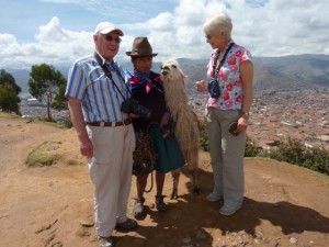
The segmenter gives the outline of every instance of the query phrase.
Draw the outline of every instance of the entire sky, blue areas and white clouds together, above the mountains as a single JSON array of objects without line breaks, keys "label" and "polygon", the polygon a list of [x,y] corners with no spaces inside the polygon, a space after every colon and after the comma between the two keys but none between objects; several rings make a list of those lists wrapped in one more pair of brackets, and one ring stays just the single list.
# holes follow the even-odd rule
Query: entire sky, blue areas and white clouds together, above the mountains
[{"label": "entire sky, blue areas and white clouds together, above the mountains", "polygon": [[207,58],[202,24],[219,11],[232,38],[253,56],[329,54],[329,1],[324,0],[0,0],[0,68],[69,66],[93,52],[101,21],[125,33],[117,60],[135,36],[149,37],[158,60]]}]

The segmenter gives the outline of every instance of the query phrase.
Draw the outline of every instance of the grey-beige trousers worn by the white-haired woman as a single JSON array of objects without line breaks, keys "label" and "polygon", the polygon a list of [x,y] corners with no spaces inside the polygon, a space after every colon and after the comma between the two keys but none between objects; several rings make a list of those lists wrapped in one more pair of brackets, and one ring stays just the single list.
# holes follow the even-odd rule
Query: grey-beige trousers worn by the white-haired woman
[{"label": "grey-beige trousers worn by the white-haired woman", "polygon": [[235,136],[229,124],[239,119],[238,110],[208,108],[205,113],[209,134],[214,193],[222,195],[229,209],[241,205],[245,192],[243,156],[246,132]]}]

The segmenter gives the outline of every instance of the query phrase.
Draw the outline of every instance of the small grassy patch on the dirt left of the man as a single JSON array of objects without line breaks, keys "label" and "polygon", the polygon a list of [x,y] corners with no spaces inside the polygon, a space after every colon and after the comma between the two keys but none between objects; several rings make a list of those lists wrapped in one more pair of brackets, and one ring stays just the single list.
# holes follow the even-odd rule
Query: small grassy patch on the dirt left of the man
[{"label": "small grassy patch on the dirt left of the man", "polygon": [[25,165],[29,167],[33,166],[52,166],[54,161],[54,157],[50,154],[47,154],[47,149],[52,146],[52,142],[43,142],[35,148],[33,148],[32,151],[27,155],[27,158],[25,159]]}]

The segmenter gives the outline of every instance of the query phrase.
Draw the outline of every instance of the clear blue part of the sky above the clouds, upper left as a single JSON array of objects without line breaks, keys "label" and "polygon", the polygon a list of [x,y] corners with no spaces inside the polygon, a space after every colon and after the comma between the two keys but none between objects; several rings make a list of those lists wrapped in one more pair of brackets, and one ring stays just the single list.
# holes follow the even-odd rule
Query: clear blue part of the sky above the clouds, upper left
[{"label": "clear blue part of the sky above the clouds, upper left", "polygon": [[97,23],[104,20],[117,24],[145,22],[161,12],[173,11],[178,2],[175,0],[0,0],[0,33],[14,34],[21,42],[33,42],[39,26],[48,23],[54,16],[60,20],[63,29],[76,32],[92,31]]}]

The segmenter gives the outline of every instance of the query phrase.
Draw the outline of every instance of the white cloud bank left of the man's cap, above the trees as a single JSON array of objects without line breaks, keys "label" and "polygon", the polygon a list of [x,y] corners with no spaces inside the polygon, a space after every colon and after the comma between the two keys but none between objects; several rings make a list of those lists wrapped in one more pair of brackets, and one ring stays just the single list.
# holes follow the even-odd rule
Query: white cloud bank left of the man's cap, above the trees
[{"label": "white cloud bank left of the man's cap, above the trees", "polygon": [[13,35],[0,34],[0,67],[31,68],[43,63],[69,66],[93,50],[92,33],[64,30],[56,16],[42,25],[35,37],[35,43],[20,44]]}]

